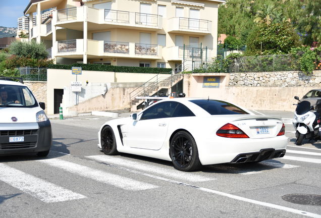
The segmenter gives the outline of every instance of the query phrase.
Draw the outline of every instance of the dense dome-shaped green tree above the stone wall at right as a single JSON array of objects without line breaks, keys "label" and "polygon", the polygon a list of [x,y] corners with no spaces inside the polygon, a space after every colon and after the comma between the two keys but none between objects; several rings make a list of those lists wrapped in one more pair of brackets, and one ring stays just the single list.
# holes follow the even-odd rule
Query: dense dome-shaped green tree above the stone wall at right
[{"label": "dense dome-shaped green tree above the stone wall at right", "polygon": [[249,35],[245,55],[285,54],[299,45],[299,36],[289,22],[262,23]]}]

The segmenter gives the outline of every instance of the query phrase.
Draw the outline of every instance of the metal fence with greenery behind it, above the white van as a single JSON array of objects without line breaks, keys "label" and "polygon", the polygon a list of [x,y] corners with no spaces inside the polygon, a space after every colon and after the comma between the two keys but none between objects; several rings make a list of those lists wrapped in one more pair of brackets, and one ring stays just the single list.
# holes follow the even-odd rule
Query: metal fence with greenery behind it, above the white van
[{"label": "metal fence with greenery behind it, above the white van", "polygon": [[47,81],[47,68],[20,67],[20,76],[28,81]]}]

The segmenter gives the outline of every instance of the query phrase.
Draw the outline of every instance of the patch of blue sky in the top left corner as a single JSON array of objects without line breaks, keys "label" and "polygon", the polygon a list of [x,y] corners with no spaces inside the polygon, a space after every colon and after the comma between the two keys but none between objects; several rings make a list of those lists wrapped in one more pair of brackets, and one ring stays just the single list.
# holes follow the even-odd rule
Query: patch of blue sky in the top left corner
[{"label": "patch of blue sky in the top left corner", "polygon": [[0,0],[0,26],[17,27],[17,19],[23,16],[23,11],[29,0]]}]

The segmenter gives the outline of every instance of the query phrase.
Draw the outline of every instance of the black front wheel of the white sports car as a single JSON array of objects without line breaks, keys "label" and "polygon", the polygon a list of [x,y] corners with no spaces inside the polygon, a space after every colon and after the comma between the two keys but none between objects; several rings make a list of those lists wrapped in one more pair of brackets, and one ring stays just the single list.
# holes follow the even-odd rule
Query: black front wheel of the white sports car
[{"label": "black front wheel of the white sports car", "polygon": [[115,134],[114,134],[112,127],[105,126],[101,130],[100,144],[101,144],[101,149],[104,154],[107,154],[107,155],[118,154]]}]

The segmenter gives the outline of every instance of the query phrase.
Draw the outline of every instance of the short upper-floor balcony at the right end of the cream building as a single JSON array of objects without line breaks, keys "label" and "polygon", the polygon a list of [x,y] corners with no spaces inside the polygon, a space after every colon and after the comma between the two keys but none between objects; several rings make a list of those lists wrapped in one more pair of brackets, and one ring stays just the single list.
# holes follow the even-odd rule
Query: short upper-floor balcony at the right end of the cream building
[{"label": "short upper-floor balcony at the right end of the cream building", "polygon": [[168,20],[169,32],[206,35],[211,33],[211,21],[174,17]]}]

